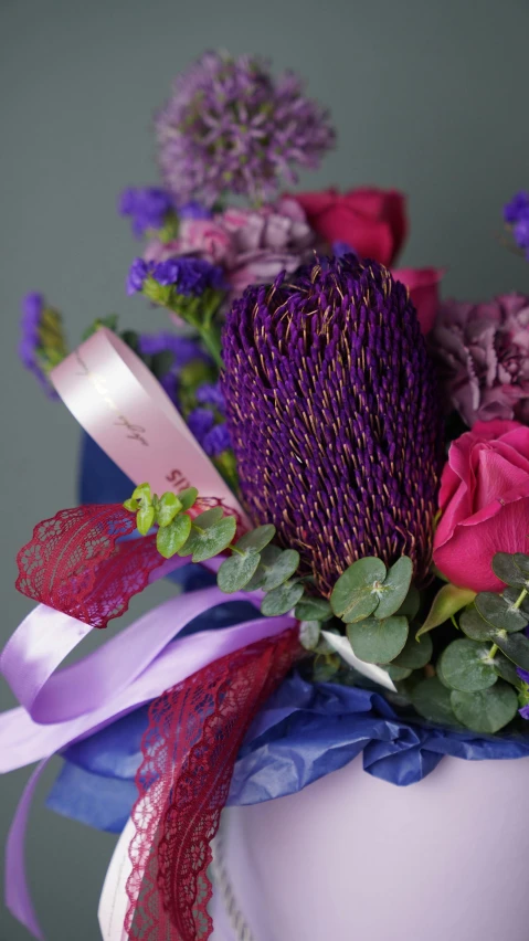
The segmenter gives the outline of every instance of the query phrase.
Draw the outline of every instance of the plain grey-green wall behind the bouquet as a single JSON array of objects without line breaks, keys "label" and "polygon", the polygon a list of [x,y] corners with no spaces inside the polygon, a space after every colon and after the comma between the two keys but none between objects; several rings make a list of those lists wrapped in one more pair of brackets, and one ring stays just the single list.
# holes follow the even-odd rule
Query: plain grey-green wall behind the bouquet
[{"label": "plain grey-green wall behind the bouquet", "polygon": [[[528,34],[527,0],[0,0],[2,644],[31,607],[13,589],[15,550],[75,504],[78,442],[67,411],[19,366],[19,300],[44,290],[72,343],[113,310],[165,326],[124,294],[135,244],[115,204],[125,186],[157,178],[150,114],[172,76],[214,46],[303,73],[339,130],[303,182],[403,189],[402,262],[445,265],[445,294],[479,298],[529,292],[529,265],[498,244],[502,203],[529,187]],[[130,616],[169,591],[150,589]],[[0,782],[2,839],[27,776]],[[114,839],[45,811],[50,781],[29,834],[36,910],[50,941],[94,941]],[[28,937],[3,909],[0,941]]]}]

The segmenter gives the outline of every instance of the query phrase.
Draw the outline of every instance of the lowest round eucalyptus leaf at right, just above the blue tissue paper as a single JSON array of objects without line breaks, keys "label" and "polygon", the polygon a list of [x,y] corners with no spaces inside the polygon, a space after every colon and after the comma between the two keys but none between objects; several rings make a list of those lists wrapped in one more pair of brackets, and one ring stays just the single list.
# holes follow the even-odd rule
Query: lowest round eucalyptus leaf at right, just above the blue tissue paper
[{"label": "lowest round eucalyptus leaf at right, just above the blue tissue paper", "polygon": [[449,698],[459,722],[475,732],[486,734],[499,732],[518,711],[518,696],[502,679],[476,692],[453,689]]}]

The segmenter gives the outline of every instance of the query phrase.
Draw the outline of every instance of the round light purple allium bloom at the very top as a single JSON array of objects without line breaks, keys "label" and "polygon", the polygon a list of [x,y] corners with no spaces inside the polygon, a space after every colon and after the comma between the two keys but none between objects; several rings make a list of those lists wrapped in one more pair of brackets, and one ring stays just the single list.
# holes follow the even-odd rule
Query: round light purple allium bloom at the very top
[{"label": "round light purple allium bloom at the very top", "polygon": [[213,205],[231,191],[269,200],[296,167],[318,167],[335,133],[292,72],[261,59],[208,52],[174,84],[157,118],[159,160],[179,202]]}]

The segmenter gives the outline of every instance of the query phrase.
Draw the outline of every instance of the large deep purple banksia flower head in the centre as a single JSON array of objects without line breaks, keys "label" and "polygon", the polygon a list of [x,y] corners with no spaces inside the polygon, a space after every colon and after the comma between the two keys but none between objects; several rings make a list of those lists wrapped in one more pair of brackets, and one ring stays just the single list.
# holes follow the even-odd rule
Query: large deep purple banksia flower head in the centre
[{"label": "large deep purple banksia flower head in the centre", "polygon": [[329,594],[356,559],[430,565],[442,464],[433,370],[404,285],[355,256],[248,287],[221,384],[242,495]]}]

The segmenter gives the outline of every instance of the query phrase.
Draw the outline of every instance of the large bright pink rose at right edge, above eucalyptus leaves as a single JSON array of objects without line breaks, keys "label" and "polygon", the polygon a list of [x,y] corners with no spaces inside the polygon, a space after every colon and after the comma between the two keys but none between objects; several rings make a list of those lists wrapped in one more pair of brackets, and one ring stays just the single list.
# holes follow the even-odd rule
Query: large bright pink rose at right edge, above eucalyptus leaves
[{"label": "large bright pink rose at right edge, above eucalyptus leaves", "polygon": [[477,422],[453,442],[441,480],[437,568],[456,585],[498,591],[496,552],[529,550],[529,429]]}]

